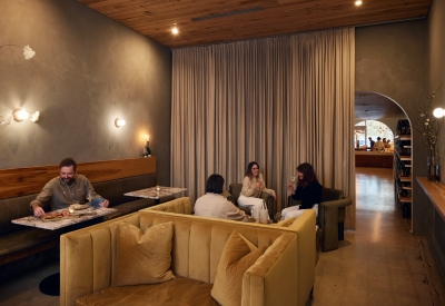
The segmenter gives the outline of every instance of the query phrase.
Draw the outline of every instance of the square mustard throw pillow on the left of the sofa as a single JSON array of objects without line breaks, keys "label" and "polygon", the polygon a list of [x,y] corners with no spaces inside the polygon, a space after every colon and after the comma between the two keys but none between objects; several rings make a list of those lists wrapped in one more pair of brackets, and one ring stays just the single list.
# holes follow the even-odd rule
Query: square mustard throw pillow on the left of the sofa
[{"label": "square mustard throw pillow on the left of the sofa", "polygon": [[171,266],[172,223],[147,228],[131,224],[117,227],[112,286],[158,284],[175,278]]}]

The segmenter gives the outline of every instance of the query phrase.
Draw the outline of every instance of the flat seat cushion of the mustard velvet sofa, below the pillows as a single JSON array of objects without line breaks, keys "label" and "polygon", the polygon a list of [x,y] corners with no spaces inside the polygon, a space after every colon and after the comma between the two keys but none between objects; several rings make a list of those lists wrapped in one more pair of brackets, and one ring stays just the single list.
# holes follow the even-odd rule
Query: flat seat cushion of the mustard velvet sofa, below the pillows
[{"label": "flat seat cushion of the mustard velvet sofa, below the pillows", "polygon": [[108,287],[76,300],[77,306],[218,306],[211,297],[211,284],[178,276],[156,285]]}]

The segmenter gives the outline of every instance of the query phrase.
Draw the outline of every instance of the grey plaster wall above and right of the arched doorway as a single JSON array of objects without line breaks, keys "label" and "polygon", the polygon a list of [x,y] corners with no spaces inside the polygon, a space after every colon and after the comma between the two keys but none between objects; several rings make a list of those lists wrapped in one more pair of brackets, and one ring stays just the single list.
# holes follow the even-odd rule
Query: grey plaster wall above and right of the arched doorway
[{"label": "grey plaster wall above and right of the arched doorway", "polygon": [[[427,92],[427,21],[416,20],[356,29],[356,90],[393,99],[409,120],[414,105]],[[426,148],[413,136],[414,177],[426,175]],[[424,194],[414,184],[413,230],[425,233]],[[402,213],[400,213],[402,218]]]}]

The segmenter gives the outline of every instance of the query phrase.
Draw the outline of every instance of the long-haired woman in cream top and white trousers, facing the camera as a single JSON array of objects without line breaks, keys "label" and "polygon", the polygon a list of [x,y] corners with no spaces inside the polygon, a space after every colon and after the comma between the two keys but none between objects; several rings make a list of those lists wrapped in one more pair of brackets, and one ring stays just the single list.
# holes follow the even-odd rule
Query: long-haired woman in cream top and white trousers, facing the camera
[{"label": "long-haired woman in cream top and white trousers, facing the camera", "polygon": [[243,180],[241,194],[238,198],[238,205],[250,207],[251,216],[257,216],[257,210],[263,206],[261,193],[270,194],[275,199],[277,196],[273,189],[267,189],[259,172],[259,166],[256,161],[250,161],[247,166],[246,176]]}]

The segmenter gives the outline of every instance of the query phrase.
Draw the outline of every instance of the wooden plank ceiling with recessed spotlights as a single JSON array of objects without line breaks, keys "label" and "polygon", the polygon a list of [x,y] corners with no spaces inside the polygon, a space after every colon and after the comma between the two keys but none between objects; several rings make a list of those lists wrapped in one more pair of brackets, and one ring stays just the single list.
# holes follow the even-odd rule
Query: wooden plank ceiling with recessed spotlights
[{"label": "wooden plank ceiling with recessed spotlights", "polygon": [[[169,48],[419,19],[426,18],[431,4],[431,0],[363,0],[360,7],[355,0],[78,1]],[[240,13],[246,10],[253,11]],[[204,20],[192,20],[197,18]],[[177,36],[171,33],[175,26]]]}]

